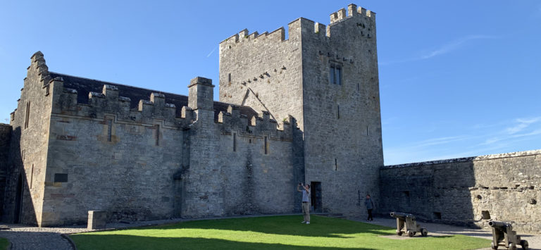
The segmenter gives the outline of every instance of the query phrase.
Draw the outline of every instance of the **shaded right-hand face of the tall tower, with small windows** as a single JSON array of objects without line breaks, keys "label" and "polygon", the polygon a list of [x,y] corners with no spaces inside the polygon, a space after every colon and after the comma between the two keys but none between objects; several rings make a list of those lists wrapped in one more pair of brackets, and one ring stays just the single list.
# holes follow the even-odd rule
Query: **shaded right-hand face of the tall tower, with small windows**
[{"label": "shaded right-hand face of the tall tower, with small windows", "polygon": [[375,13],[351,4],[330,22],[301,19],[306,180],[321,182],[323,211],[359,215],[383,165]]}]

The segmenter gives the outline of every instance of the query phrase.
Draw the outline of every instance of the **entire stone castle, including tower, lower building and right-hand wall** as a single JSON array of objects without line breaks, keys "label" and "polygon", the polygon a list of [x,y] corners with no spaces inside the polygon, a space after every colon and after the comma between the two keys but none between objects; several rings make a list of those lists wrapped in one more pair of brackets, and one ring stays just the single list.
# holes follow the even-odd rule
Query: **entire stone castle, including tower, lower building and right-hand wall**
[{"label": "entire stone castle, including tower, lower building and right-hand wall", "polygon": [[[204,77],[182,96],[54,73],[38,51],[10,125],[0,125],[2,219],[297,213],[305,182],[316,212],[364,215],[371,194],[378,213],[483,225],[491,210],[541,231],[527,221],[541,218],[541,151],[383,165],[375,13],[350,4],[327,26],[299,18],[285,32],[220,42],[220,101]],[[477,169],[494,165],[499,177],[478,181]],[[504,190],[521,204],[495,205]]]}]

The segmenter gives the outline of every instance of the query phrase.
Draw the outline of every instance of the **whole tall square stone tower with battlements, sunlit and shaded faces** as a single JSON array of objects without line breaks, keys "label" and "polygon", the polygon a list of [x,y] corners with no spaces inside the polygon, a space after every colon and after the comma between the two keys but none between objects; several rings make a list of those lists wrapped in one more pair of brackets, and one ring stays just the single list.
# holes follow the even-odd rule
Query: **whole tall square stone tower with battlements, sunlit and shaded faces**
[{"label": "whole tall square stone tower with battlements, sunlit and shaded faces", "polygon": [[359,213],[383,165],[375,13],[350,4],[327,27],[299,18],[287,32],[220,43],[220,101],[297,119],[315,211]]}]

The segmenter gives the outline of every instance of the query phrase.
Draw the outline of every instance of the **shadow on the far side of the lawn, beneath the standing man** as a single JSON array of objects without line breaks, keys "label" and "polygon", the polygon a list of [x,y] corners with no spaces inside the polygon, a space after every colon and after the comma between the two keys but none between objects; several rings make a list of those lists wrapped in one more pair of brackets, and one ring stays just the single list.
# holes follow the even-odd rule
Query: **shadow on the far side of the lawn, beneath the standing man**
[{"label": "shadow on the far side of the lawn, beneath the standing man", "polygon": [[[352,238],[344,235],[359,233],[373,235],[392,235],[391,227],[360,223],[322,216],[312,216],[311,224],[300,223],[301,216],[270,216],[259,218],[235,218],[219,220],[194,220],[166,226],[147,227],[152,230],[170,230],[180,228],[203,230],[251,231],[273,235],[294,235],[305,237]],[[145,230],[145,228],[140,228]]]}]

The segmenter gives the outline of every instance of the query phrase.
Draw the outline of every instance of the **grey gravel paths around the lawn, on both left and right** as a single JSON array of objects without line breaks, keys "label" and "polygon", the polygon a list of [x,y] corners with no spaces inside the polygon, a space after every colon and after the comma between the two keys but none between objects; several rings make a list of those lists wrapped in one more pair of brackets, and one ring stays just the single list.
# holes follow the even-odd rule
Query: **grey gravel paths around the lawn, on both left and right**
[{"label": "grey gravel paths around the lawn, on both left and right", "polygon": [[[272,215],[269,215],[272,216]],[[234,218],[246,218],[246,217],[258,217],[254,216],[238,216]],[[216,218],[208,218],[216,219]],[[365,220],[359,218],[349,218],[350,220],[356,220],[365,222]],[[151,221],[142,221],[142,222],[132,222],[132,223],[108,223],[107,230],[122,229],[128,227],[141,227],[146,225],[162,225],[168,223],[178,223],[182,221],[181,219],[174,220],[151,220]],[[387,218],[375,218],[373,223],[376,225],[385,225],[387,227],[396,227],[396,220],[387,219]],[[442,225],[434,223],[420,223],[423,227],[428,229],[428,235],[468,235],[473,237],[480,237],[485,239],[492,239],[492,232],[489,230],[478,230],[468,227],[456,227],[452,225]],[[0,237],[4,237],[11,242],[11,249],[14,250],[42,250],[42,249],[57,249],[57,250],[72,250],[70,242],[65,239],[63,234],[73,234],[77,232],[91,232],[94,230],[87,230],[85,225],[73,225],[66,227],[29,227],[25,225],[18,224],[4,224],[0,223],[0,227],[7,226],[9,230],[0,230]],[[530,249],[541,250],[541,235],[528,235],[521,234],[518,232],[518,235],[522,239],[528,240],[530,244]],[[401,237],[400,239],[408,239],[409,237]],[[490,249],[490,246],[485,248]],[[482,249],[482,250],[485,250]],[[500,248],[502,249],[502,248]],[[520,249],[520,246],[518,246]]]}]

